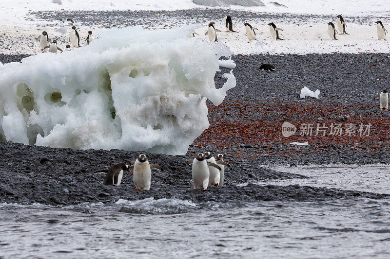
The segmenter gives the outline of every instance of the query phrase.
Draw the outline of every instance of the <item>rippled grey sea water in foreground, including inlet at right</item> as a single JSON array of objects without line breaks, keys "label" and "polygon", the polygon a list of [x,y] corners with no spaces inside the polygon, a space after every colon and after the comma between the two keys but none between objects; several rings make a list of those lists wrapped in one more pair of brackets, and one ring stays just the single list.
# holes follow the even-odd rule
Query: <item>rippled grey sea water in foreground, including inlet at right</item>
[{"label": "rippled grey sea water in foreground, including inlet at right", "polygon": [[[257,183],[390,193],[390,166],[270,167]],[[242,185],[245,188],[245,184]],[[390,200],[0,204],[3,258],[390,258]]]}]

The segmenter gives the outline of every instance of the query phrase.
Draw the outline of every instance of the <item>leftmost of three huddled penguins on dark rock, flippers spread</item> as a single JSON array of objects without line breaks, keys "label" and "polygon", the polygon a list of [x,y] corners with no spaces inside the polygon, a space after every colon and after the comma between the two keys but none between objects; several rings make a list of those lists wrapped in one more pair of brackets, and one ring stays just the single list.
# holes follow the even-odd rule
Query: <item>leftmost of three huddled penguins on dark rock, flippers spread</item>
[{"label": "leftmost of three huddled penguins on dark rock, flippers spread", "polygon": [[203,153],[199,153],[194,160],[189,160],[188,165],[192,165],[192,182],[195,190],[198,188],[203,188],[203,190],[207,189],[209,185],[210,167],[221,170],[217,164],[207,162]]}]

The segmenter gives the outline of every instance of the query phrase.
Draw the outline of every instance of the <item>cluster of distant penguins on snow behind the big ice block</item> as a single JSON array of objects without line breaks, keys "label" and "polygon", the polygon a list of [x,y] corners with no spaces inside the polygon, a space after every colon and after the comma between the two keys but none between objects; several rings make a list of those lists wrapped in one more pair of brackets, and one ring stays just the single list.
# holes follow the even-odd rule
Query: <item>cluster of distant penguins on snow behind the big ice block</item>
[{"label": "cluster of distant penguins on snow behind the big ice block", "polygon": [[[49,35],[46,31],[43,31],[42,34],[37,38],[39,40],[39,46],[41,48],[42,52],[46,52],[47,50],[49,52],[56,53],[57,51],[63,52],[62,49],[58,47],[57,40],[51,41],[49,39]],[[92,31],[88,32],[88,35],[84,41],[83,46],[89,45],[93,40],[95,40],[95,37],[92,35]],[[69,36],[70,44],[66,45],[65,50],[71,51],[71,46],[73,48],[79,48],[80,46],[80,35],[78,34],[78,31],[76,30],[76,26],[72,26],[70,36]]]}]

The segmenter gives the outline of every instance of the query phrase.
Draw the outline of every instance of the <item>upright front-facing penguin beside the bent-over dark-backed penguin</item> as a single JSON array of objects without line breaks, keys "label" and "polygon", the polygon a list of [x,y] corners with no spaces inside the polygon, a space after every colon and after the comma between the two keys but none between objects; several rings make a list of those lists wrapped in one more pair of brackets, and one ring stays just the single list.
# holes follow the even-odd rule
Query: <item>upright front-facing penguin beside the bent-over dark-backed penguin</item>
[{"label": "upright front-facing penguin beside the bent-over dark-backed penguin", "polygon": [[130,165],[134,166],[133,181],[137,190],[150,189],[152,168],[162,171],[159,165],[149,164],[148,157],[144,154],[139,155],[136,161],[131,161]]}]

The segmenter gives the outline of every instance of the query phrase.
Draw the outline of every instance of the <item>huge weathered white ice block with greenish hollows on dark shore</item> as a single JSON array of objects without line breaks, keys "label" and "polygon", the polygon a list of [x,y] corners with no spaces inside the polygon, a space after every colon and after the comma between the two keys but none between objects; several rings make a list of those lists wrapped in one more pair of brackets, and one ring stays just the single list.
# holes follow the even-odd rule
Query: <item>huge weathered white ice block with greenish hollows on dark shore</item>
[{"label": "huge weathered white ice block with greenish hollows on dark shore", "polygon": [[222,44],[188,39],[194,26],[159,31],[110,29],[71,52],[41,53],[0,65],[0,141],[75,149],[172,155],[209,126]]}]

